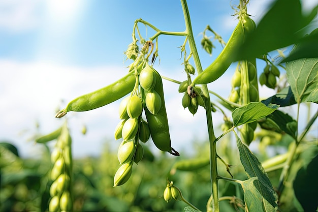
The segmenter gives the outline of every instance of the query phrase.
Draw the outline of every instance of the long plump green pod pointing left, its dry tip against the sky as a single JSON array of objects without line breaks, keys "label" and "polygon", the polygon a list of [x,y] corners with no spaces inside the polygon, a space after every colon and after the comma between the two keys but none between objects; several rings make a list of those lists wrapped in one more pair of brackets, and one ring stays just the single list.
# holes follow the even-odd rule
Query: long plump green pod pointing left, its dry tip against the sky
[{"label": "long plump green pod pointing left, its dry tip against the sky", "polygon": [[93,110],[109,103],[112,103],[132,92],[136,82],[134,72],[130,72],[116,82],[98,89],[92,93],[85,94],[72,100],[65,109],[56,113],[55,117],[60,118],[69,111]]}]

